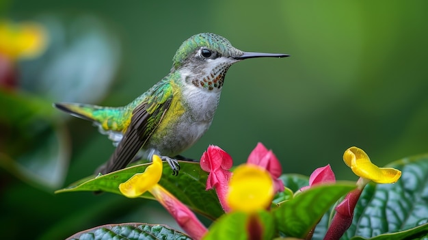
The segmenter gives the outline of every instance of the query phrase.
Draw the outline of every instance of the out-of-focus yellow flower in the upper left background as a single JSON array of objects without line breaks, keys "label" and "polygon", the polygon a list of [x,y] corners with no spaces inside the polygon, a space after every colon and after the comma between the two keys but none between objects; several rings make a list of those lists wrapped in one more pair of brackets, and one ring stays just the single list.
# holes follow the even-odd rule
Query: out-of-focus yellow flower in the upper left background
[{"label": "out-of-focus yellow flower in the upper left background", "polygon": [[31,58],[46,48],[46,29],[38,23],[0,20],[0,54],[11,59]]}]

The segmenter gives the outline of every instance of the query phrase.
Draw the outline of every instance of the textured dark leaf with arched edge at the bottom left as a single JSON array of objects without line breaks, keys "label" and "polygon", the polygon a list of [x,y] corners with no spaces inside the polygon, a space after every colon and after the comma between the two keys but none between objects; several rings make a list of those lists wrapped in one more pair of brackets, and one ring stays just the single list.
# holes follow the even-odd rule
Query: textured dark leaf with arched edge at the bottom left
[{"label": "textured dark leaf with arched edge at the bottom left", "polygon": [[108,224],[98,226],[72,235],[68,240],[90,240],[90,239],[189,239],[183,232],[178,232],[165,225],[152,224]]}]

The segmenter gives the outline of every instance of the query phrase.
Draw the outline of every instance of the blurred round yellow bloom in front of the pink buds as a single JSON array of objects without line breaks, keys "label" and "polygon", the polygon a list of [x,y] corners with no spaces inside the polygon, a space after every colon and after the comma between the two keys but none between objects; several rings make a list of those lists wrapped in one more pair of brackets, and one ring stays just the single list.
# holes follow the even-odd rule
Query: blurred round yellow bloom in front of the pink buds
[{"label": "blurred round yellow bloom in front of the pink buds", "polygon": [[273,181],[265,169],[257,165],[240,165],[229,182],[228,205],[232,211],[254,212],[266,209],[273,198]]}]

